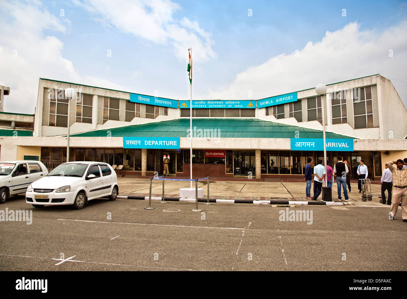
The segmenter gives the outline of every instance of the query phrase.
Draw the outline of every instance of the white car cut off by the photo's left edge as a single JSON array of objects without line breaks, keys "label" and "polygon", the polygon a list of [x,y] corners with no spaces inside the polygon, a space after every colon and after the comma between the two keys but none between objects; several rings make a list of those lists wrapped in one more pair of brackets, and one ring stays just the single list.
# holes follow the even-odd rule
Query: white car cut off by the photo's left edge
[{"label": "white car cut off by the photo's left edge", "polygon": [[0,162],[0,203],[10,195],[25,193],[28,185],[47,174],[48,169],[39,161]]}]

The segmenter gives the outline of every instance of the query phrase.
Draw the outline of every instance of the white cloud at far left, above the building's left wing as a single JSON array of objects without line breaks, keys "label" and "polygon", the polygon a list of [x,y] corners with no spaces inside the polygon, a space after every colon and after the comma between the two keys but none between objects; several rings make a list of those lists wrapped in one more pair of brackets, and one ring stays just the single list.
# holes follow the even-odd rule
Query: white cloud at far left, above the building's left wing
[{"label": "white cloud at far left, above the building's left wing", "polygon": [[52,15],[38,1],[2,3],[0,18],[0,85],[10,87],[4,111],[34,113],[38,79],[48,78],[112,89],[126,87],[78,74],[72,61],[62,57],[63,42],[44,30],[67,33],[70,20]]}]

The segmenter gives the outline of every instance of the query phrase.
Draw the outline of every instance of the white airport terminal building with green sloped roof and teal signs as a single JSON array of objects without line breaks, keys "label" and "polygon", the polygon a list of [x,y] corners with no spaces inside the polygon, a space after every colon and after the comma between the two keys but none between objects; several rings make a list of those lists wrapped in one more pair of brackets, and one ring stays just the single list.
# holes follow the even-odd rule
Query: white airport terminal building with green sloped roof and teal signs
[{"label": "white airport terminal building with green sloped roof and teal signs", "polygon": [[[77,99],[66,99],[66,88]],[[322,97],[310,88],[264,99],[193,101],[192,132],[190,105],[39,79],[35,114],[0,112],[0,159],[38,159],[48,169],[66,162],[69,120],[70,161],[107,162],[121,175],[162,175],[169,157],[170,175],[189,177],[192,133],[194,177],[303,178],[306,159],[313,167],[324,156],[322,109],[333,163],[338,155],[350,165],[363,159],[369,177],[380,179],[385,162],[407,157],[407,109],[380,74],[329,84]]]}]

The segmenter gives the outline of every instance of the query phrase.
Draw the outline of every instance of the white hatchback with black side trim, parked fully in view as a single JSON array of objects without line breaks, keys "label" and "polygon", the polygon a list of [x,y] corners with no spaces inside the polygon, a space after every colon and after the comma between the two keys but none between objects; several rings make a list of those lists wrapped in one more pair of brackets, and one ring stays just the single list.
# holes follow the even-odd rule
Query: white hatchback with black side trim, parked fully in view
[{"label": "white hatchback with black side trim, parked fully in view", "polygon": [[67,162],[27,188],[26,203],[73,205],[82,209],[87,201],[109,196],[114,201],[119,187],[112,166],[102,162]]}]

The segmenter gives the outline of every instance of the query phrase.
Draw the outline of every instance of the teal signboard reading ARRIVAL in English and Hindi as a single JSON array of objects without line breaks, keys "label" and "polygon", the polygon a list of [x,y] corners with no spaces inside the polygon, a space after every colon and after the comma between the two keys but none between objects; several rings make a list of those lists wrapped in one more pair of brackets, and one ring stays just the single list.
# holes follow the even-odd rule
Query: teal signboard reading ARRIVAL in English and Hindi
[{"label": "teal signboard reading ARRIVAL in English and Hindi", "polygon": [[[291,151],[323,151],[324,140],[291,138]],[[353,151],[353,139],[326,139],[327,151]]]}]

